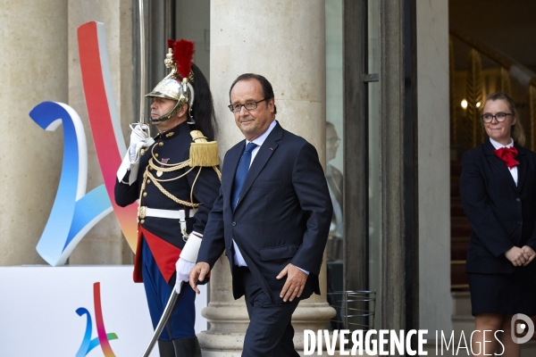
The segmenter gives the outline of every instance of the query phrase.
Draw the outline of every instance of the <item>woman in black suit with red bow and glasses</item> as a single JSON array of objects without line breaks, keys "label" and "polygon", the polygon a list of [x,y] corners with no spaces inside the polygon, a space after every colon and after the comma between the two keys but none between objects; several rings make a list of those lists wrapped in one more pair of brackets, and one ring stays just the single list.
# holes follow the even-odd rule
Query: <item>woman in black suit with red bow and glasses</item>
[{"label": "woman in black suit with red bow and glasses", "polygon": [[[460,178],[473,228],[465,265],[475,317],[473,354],[504,349],[503,356],[519,356],[512,316],[536,315],[536,154],[523,148],[523,128],[508,95],[486,98],[482,122],[489,138],[464,154]],[[502,346],[498,330],[504,331],[497,335]]]}]

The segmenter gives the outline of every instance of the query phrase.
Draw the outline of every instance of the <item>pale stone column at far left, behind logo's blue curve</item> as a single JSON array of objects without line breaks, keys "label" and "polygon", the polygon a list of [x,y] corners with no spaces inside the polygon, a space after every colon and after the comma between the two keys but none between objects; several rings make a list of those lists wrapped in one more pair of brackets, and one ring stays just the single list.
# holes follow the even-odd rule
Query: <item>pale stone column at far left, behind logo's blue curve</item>
[{"label": "pale stone column at far left, behind logo's blue curve", "polygon": [[67,102],[67,0],[2,4],[0,265],[43,263],[36,245],[54,203],[63,134],[39,128],[29,112]]}]

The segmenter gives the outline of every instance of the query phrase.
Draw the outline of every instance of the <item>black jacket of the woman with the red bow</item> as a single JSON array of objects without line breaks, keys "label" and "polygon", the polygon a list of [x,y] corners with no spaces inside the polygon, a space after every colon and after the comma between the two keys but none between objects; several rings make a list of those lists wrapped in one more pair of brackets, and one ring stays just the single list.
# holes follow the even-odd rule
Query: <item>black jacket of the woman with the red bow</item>
[{"label": "black jacket of the woman with the red bow", "polygon": [[[464,154],[460,191],[473,232],[465,271],[510,273],[514,266],[504,253],[513,246],[536,249],[536,154],[518,150],[517,186],[490,140]],[[534,269],[536,263],[527,267]]]}]

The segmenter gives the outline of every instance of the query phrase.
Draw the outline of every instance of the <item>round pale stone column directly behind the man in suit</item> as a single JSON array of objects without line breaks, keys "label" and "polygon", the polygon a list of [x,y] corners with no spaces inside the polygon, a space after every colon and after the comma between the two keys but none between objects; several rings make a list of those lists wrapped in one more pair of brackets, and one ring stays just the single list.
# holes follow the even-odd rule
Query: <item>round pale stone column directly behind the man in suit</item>
[{"label": "round pale stone column directly behind the man in suit", "polygon": [[[218,117],[218,142],[223,154],[244,137],[226,108],[230,84],[254,72],[270,80],[284,129],[305,137],[325,158],[324,2],[211,1],[211,88]],[[239,356],[247,328],[243,299],[232,298],[226,258],[214,266],[211,299],[203,311],[211,328],[200,334],[206,356]],[[324,260],[325,261],[325,260]],[[326,270],[322,295],[299,304],[293,317],[297,351],[303,351],[305,328],[326,328],[334,310],[326,303]]]}]

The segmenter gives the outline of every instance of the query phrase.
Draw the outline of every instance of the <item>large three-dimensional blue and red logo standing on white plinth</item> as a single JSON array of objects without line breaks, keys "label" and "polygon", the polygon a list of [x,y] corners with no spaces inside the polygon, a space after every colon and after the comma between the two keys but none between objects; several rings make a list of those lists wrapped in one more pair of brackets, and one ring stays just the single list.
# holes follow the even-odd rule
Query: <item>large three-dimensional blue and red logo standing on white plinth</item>
[{"label": "large three-dimensional blue and red logo standing on white plinth", "polygon": [[115,172],[126,153],[106,51],[105,25],[88,22],[78,29],[80,70],[96,156],[105,183],[86,192],[88,150],[80,116],[69,105],[43,102],[29,116],[39,127],[63,126],[63,166],[54,205],[39,238],[39,255],[63,265],[88,230],[114,212],[130,248],[136,251],[137,205],[121,208],[113,200]]}]

